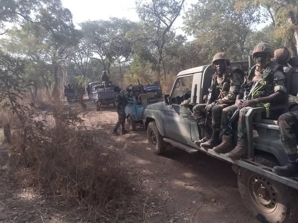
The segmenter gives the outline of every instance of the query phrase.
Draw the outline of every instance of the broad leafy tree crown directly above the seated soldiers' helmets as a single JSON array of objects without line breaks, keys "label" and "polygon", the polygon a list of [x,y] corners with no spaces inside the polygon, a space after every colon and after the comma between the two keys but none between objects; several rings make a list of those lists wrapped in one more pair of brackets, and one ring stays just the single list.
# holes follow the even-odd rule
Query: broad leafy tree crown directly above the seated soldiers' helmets
[{"label": "broad leafy tree crown directly above the seated soldiers' helmets", "polygon": [[247,36],[261,14],[253,3],[235,8],[235,0],[199,0],[186,13],[185,31],[194,35],[209,49],[212,57],[219,51],[242,59]]}]

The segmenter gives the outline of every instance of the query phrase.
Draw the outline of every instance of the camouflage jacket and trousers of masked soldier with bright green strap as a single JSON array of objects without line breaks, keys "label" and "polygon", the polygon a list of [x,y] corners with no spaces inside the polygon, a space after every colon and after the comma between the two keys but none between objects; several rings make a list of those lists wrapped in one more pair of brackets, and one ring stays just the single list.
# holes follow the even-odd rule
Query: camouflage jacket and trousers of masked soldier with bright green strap
[{"label": "camouflage jacket and trousers of masked soldier with bright green strap", "polygon": [[[268,69],[267,69],[268,68]],[[245,81],[244,85],[247,84],[247,82],[252,81],[254,79],[255,70],[257,69],[256,66],[253,66],[251,70],[248,73],[247,80]],[[269,70],[275,70],[275,72],[272,74],[272,71]],[[262,80],[266,81],[266,85],[264,88],[262,88],[260,91],[257,91],[254,95],[254,99],[267,97],[272,95],[275,92],[284,92],[287,93],[286,89],[286,81],[285,81],[285,75],[280,70],[280,65],[275,62],[270,62],[266,68],[263,71],[260,71]],[[255,107],[260,107],[256,105]],[[238,138],[246,139],[246,125],[245,125],[245,114],[249,109],[252,109],[252,107],[245,107],[242,108],[239,112],[239,121],[238,121]],[[223,110],[222,114],[222,129],[227,126],[228,121],[230,117],[233,115],[233,113],[237,110],[237,106],[233,105],[230,107],[227,107]],[[232,130],[226,129],[224,135],[227,138],[230,138],[232,136]]]}]

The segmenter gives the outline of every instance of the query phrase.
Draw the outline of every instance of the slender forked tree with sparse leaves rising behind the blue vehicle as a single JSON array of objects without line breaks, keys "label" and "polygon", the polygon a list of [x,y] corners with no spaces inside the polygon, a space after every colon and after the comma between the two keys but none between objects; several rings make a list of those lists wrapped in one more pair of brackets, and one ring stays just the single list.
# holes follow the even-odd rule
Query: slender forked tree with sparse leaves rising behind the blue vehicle
[{"label": "slender forked tree with sparse leaves rising behind the blue vehicle", "polygon": [[[177,17],[180,15],[185,0],[137,0],[137,12],[141,20],[148,24],[151,35],[149,42],[153,43],[158,52],[157,72],[163,70],[163,79],[166,79],[166,64],[163,60],[164,46],[167,34]],[[142,38],[144,39],[144,38]],[[161,67],[162,66],[162,67]]]}]

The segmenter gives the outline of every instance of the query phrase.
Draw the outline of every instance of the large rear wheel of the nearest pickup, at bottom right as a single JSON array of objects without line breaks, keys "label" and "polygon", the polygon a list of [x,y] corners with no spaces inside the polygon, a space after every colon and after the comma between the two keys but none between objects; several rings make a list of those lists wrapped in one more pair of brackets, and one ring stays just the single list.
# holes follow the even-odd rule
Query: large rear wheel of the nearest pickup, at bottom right
[{"label": "large rear wheel of the nearest pickup, at bottom right", "polygon": [[[256,156],[267,167],[279,165],[270,156]],[[245,168],[239,168],[238,188],[246,207],[262,223],[296,223],[297,191]]]}]

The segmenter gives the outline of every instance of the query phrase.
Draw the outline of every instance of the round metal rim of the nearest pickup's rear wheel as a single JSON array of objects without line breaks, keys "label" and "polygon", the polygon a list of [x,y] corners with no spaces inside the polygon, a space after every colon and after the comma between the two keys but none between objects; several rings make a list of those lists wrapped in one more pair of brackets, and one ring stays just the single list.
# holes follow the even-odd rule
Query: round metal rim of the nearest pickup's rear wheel
[{"label": "round metal rim of the nearest pickup's rear wheel", "polygon": [[265,213],[272,213],[278,204],[277,192],[272,182],[261,175],[253,174],[248,180],[249,195],[255,205]]}]

